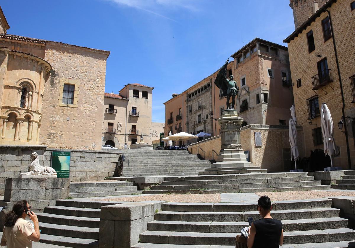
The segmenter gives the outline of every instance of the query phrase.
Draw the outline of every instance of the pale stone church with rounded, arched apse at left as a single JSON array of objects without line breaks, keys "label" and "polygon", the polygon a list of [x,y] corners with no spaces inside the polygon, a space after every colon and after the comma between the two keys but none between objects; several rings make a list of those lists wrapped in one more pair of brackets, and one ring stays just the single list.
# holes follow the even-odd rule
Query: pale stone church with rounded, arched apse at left
[{"label": "pale stone church with rounded, arched apse at left", "polygon": [[100,150],[110,52],[6,34],[2,11],[0,24],[0,145]]}]

